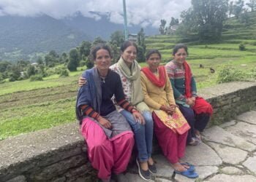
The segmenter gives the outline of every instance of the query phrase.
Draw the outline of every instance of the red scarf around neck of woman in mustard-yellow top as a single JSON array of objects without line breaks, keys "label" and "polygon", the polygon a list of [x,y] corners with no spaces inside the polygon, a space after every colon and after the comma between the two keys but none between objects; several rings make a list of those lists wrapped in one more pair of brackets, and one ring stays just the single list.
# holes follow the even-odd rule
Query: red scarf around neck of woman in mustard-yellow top
[{"label": "red scarf around neck of woman in mustard-yellow top", "polygon": [[147,76],[147,78],[157,87],[164,87],[165,86],[165,81],[166,81],[166,73],[165,73],[165,67],[164,66],[159,66],[158,71],[159,71],[159,79],[157,76],[155,76],[152,71],[148,68],[142,68],[141,71]]}]

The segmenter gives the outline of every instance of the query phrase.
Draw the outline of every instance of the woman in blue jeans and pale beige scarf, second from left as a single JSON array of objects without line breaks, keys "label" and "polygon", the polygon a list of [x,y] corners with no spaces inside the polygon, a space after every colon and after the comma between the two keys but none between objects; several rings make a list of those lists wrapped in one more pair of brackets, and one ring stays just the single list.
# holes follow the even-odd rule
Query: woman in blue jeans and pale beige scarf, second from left
[{"label": "woman in blue jeans and pale beige scarf, second from left", "polygon": [[[132,106],[135,106],[143,115],[143,122],[138,122],[132,114],[117,106],[117,110],[127,119],[135,133],[135,143],[138,149],[138,173],[144,180],[150,180],[150,173],[157,173],[157,167],[151,157],[153,139],[153,119],[146,103],[143,102],[143,92],[140,82],[140,66],[135,60],[138,47],[132,41],[124,41],[121,45],[121,57],[118,63],[110,66],[110,69],[121,76],[125,98]],[[80,78],[79,83],[84,84]]]}]

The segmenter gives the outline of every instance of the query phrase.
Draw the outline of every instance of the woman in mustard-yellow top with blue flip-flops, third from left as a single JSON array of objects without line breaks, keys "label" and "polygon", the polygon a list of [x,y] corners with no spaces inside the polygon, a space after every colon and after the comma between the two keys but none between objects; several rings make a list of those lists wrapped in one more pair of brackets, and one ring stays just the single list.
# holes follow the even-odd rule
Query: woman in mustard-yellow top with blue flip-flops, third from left
[{"label": "woman in mustard-yellow top with blue flip-flops, third from left", "polygon": [[165,67],[159,66],[160,61],[158,50],[148,51],[148,67],[143,68],[141,73],[144,101],[153,111],[154,132],[159,146],[175,172],[188,178],[197,178],[194,166],[179,161],[184,156],[189,124],[176,107],[170,81]]}]

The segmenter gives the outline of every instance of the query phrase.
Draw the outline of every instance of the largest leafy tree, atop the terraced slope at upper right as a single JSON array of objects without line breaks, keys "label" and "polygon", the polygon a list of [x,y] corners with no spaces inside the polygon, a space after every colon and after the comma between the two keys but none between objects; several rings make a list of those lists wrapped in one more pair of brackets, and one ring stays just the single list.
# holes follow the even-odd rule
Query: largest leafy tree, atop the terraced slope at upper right
[{"label": "largest leafy tree, atop the terraced slope at upper right", "polygon": [[227,15],[226,0],[192,0],[192,7],[181,13],[187,31],[198,32],[200,41],[216,41],[222,35]]}]

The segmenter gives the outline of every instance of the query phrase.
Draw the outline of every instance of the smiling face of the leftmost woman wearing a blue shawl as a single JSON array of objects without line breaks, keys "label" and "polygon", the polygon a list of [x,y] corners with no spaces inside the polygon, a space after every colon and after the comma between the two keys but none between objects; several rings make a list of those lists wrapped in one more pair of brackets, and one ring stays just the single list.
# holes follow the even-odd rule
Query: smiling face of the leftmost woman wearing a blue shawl
[{"label": "smiling face of the leftmost woman wearing a blue shawl", "polygon": [[96,52],[94,62],[99,71],[108,70],[111,64],[111,56],[108,50],[100,49]]}]

